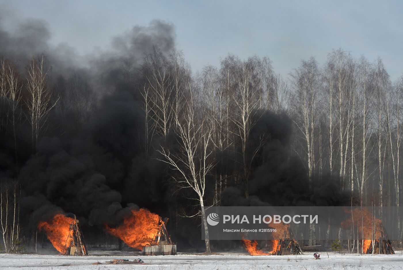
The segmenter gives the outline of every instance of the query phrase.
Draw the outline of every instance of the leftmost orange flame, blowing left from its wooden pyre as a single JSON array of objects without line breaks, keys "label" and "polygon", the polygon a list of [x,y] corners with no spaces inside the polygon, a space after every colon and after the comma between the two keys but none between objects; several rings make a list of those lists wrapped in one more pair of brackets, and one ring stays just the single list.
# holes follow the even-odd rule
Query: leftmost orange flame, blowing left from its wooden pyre
[{"label": "leftmost orange flame, blowing left from its wooden pyre", "polygon": [[70,231],[70,225],[74,224],[75,220],[71,217],[66,217],[63,214],[56,214],[49,221],[40,221],[38,229],[45,231],[46,236],[52,243],[52,245],[60,252],[64,254],[67,247],[70,245],[68,241],[73,237],[73,231]]}]

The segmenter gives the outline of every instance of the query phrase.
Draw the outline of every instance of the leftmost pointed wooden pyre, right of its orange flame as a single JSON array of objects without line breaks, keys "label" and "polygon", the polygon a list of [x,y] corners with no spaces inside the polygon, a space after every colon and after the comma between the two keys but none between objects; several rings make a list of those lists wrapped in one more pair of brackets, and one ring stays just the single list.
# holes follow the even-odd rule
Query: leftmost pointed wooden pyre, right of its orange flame
[{"label": "leftmost pointed wooden pyre, right of its orange flame", "polygon": [[66,239],[67,247],[62,255],[87,256],[88,250],[85,245],[83,233],[81,232],[79,221],[74,215],[74,222],[70,224],[69,236]]}]

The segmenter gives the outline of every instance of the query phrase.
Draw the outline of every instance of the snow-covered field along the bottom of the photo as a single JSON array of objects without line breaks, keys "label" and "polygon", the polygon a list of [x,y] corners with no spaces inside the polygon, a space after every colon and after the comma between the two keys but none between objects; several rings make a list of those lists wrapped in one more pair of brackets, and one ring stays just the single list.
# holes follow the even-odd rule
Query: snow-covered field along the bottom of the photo
[{"label": "snow-covered field along the bottom of the photo", "polygon": [[[109,252],[109,254],[111,254]],[[321,260],[313,259],[313,252],[300,256],[248,256],[241,254],[223,255],[189,255],[175,256],[127,256],[130,253],[115,256],[59,256],[59,255],[22,255],[0,254],[0,269],[2,270],[107,270],[107,269],[140,269],[140,270],[204,270],[204,269],[266,269],[266,270],[346,270],[346,269],[403,269],[403,254],[398,251],[395,255],[357,255],[321,253]],[[134,260],[142,258],[146,265],[113,264],[91,265],[93,262],[104,263],[107,260],[124,258]],[[62,266],[64,265],[64,266]]]}]

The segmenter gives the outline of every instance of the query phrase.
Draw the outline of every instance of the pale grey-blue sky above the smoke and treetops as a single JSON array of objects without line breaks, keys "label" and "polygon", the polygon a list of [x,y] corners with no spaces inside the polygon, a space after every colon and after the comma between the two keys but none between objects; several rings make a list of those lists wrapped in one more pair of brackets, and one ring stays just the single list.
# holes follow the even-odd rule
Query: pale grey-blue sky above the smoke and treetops
[{"label": "pale grey-blue sky above the smoke and treetops", "polygon": [[[268,56],[287,74],[301,59],[322,65],[342,47],[370,61],[380,56],[392,80],[403,74],[402,1],[104,1],[0,0],[13,18],[42,18],[51,42],[79,53],[107,47],[111,38],[152,19],[172,23],[177,47],[193,71],[218,65],[220,57]],[[15,22],[3,22],[12,27]],[[1,42],[1,41],[0,41]]]}]

